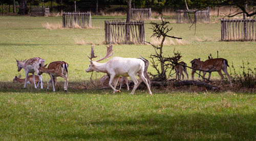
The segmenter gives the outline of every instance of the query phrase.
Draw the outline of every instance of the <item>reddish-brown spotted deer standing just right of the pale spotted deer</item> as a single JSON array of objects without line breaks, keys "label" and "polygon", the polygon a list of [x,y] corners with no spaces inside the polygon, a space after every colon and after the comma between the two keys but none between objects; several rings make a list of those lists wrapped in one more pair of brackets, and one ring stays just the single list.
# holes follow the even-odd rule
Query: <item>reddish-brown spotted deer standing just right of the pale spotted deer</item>
[{"label": "reddish-brown spotted deer standing just right of the pale spotted deer", "polygon": [[56,77],[62,77],[65,80],[64,84],[64,90],[67,92],[68,90],[68,68],[69,64],[64,61],[55,61],[51,62],[48,67],[39,65],[38,71],[39,75],[42,73],[49,74],[51,79],[49,80],[47,90],[49,90],[50,83],[52,83],[53,91],[55,91],[54,83],[56,80]]}]

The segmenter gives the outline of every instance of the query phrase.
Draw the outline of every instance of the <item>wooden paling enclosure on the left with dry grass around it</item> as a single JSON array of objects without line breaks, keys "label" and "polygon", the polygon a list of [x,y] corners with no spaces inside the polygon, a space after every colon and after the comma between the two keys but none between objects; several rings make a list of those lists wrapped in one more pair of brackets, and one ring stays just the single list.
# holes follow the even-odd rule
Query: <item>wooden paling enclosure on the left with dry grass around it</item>
[{"label": "wooden paling enclosure on the left with dry grass around it", "polygon": [[91,12],[63,12],[62,27],[63,28],[89,28],[92,26]]}]

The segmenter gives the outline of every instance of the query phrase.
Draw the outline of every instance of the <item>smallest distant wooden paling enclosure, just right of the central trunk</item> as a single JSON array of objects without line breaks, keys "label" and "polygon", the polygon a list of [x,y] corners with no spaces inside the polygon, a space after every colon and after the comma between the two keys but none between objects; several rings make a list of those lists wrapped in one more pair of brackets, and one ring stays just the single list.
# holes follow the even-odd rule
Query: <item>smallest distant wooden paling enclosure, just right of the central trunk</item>
[{"label": "smallest distant wooden paling enclosure, just right of the central trunk", "polygon": [[132,8],[132,19],[151,19],[151,8]]}]

